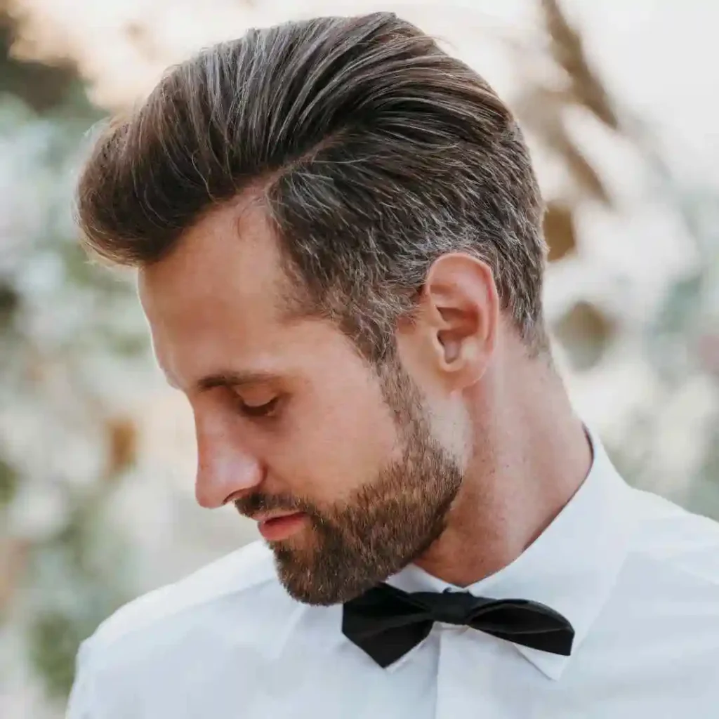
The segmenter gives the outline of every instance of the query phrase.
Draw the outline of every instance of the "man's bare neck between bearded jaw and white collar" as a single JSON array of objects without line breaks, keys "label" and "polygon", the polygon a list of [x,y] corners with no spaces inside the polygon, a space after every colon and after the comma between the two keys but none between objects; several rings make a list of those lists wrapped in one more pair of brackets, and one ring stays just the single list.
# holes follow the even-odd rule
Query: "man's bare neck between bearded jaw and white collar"
[{"label": "man's bare neck between bearded jaw and white collar", "polygon": [[519,557],[592,464],[590,441],[554,370],[535,365],[512,372],[511,382],[492,381],[477,399],[475,449],[447,527],[415,562],[460,587]]}]

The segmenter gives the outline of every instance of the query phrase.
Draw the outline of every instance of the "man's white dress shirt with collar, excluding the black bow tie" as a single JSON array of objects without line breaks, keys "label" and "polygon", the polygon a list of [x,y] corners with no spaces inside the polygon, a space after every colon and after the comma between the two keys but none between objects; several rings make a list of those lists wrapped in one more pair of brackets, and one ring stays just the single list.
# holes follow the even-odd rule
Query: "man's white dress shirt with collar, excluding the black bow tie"
[{"label": "man's white dress shirt with collar, excluding the black bow tie", "polygon": [[[382,669],[342,634],[342,606],[285,593],[258,542],[106,620],[68,719],[718,719],[719,525],[629,487],[593,444],[549,528],[468,587],[562,613],[572,656],[435,623]],[[414,566],[388,582],[449,587]]]}]

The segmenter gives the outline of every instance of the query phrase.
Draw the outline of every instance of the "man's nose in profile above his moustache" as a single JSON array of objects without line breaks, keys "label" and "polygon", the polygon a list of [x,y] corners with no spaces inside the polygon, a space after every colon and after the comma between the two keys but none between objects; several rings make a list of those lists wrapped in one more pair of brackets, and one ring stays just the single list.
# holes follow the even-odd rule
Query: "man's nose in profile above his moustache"
[{"label": "man's nose in profile above his moustache", "polygon": [[215,509],[262,482],[262,465],[232,437],[198,431],[195,497]]}]

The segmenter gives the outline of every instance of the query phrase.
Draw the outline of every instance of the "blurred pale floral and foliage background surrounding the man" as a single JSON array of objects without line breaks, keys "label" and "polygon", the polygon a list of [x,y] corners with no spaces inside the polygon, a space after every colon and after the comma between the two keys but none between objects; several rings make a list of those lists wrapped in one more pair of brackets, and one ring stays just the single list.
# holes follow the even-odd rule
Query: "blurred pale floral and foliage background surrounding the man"
[{"label": "blurred pale floral and foliage background surrounding the man", "polygon": [[63,715],[81,639],[254,539],[193,500],[188,406],[132,275],[70,216],[93,126],[247,27],[392,9],[526,129],[546,311],[574,403],[633,485],[719,518],[719,50],[713,0],[0,0],[0,716]]}]

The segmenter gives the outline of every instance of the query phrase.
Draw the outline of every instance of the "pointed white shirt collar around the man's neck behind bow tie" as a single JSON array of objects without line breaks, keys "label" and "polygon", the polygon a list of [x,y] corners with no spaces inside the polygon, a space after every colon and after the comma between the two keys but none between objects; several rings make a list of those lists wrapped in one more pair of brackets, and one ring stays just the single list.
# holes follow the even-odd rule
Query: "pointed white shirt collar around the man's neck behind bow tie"
[{"label": "pointed white shirt collar around the man's neck behind bow tie", "polygon": [[[562,613],[574,627],[572,656],[605,605],[626,556],[630,488],[589,429],[592,467],[554,521],[514,562],[464,591],[491,599],[528,599]],[[387,580],[406,592],[461,591],[411,564]],[[515,645],[551,679],[559,679],[572,656]]]}]

